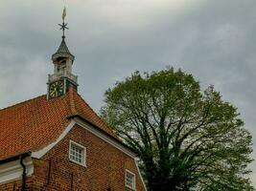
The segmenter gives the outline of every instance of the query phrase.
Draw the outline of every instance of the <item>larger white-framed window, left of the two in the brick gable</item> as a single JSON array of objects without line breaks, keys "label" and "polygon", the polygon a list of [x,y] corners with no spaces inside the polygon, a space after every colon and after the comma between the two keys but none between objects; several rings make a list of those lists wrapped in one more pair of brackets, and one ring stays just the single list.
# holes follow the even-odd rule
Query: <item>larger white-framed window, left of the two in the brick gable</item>
[{"label": "larger white-framed window, left of the two in the brick gable", "polygon": [[69,159],[75,163],[85,166],[85,156],[86,150],[85,147],[81,144],[70,140],[69,144]]}]

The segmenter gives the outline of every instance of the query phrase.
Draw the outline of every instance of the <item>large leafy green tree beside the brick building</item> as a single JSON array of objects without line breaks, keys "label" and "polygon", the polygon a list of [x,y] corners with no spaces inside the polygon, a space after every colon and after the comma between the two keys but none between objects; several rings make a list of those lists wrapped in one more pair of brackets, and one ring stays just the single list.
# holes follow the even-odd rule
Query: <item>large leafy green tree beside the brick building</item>
[{"label": "large leafy green tree beside the brick building", "polygon": [[191,74],[136,72],[105,92],[101,116],[138,154],[149,191],[253,190],[237,108]]}]

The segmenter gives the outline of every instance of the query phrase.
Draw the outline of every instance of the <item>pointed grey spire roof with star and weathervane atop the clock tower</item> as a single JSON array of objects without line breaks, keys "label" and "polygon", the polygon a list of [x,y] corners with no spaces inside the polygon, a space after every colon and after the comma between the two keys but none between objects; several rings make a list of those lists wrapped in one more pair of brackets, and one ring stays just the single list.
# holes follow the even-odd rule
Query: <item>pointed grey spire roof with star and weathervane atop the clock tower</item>
[{"label": "pointed grey spire roof with star and weathervane atop the clock tower", "polygon": [[64,10],[62,12],[62,24],[58,24],[60,26],[59,30],[62,30],[62,40],[58,47],[58,51],[52,55],[52,59],[56,60],[58,57],[70,57],[72,61],[74,61],[75,56],[69,52],[68,47],[65,42],[65,30],[68,30],[67,23],[65,23],[65,17],[66,17],[66,8],[64,7]]}]

